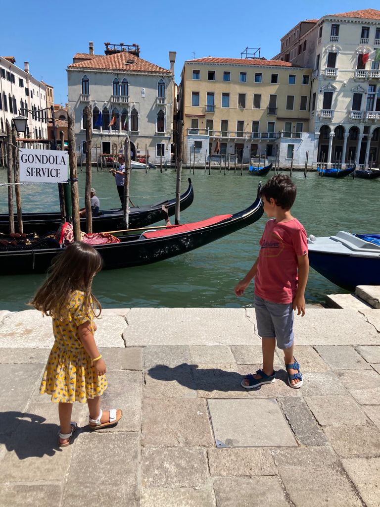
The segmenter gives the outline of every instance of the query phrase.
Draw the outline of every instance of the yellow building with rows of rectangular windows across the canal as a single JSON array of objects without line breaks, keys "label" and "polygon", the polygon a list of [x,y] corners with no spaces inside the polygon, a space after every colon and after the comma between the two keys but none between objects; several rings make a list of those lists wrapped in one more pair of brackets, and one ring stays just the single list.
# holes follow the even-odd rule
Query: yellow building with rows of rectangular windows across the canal
[{"label": "yellow building with rows of rectangular windows across the canal", "polygon": [[[305,159],[309,142],[311,69],[261,58],[198,58],[184,63],[179,111],[183,162],[220,154],[250,163],[260,153]],[[206,153],[207,152],[207,153]]]}]

